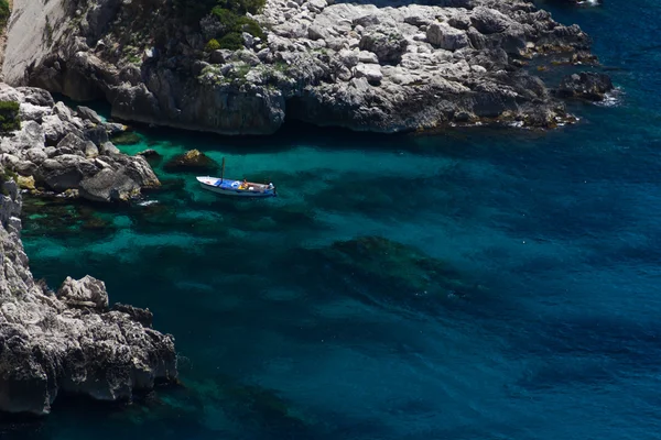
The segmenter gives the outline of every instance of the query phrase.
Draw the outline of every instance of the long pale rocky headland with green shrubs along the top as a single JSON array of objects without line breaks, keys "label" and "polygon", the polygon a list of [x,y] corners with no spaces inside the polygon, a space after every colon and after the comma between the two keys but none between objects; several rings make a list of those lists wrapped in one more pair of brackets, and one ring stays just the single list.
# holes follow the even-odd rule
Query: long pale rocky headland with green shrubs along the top
[{"label": "long pale rocky headland with green shrubs along the top", "polygon": [[522,66],[590,43],[524,0],[268,0],[252,16],[262,30],[246,24],[241,47],[223,50],[223,15],[187,25],[176,3],[14,0],[4,78],[105,98],[126,120],[225,134],[272,133],[285,117],[377,132],[549,128],[564,105]]}]

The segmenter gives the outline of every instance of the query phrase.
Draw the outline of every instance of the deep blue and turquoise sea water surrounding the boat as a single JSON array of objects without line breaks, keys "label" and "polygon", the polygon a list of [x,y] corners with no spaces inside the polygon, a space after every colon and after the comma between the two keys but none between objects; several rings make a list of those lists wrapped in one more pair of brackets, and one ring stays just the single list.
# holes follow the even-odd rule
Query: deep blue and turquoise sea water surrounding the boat
[{"label": "deep blue and turquoise sea water surrounding the boat", "polygon": [[622,90],[576,125],[144,130],[122,148],[197,147],[280,197],[228,201],[156,164],[149,206],[29,201],[35,276],[149,307],[184,386],[61,399],[1,438],[660,438],[661,6],[552,10]]}]

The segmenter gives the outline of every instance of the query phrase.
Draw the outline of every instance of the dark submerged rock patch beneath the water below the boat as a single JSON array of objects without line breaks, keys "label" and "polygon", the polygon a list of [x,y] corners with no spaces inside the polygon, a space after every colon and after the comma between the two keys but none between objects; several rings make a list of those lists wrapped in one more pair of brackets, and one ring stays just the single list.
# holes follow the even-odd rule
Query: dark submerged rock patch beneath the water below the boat
[{"label": "dark submerged rock patch beneath the water below the boat", "polygon": [[[314,274],[318,299],[345,293],[369,306],[399,314],[437,314],[483,298],[483,288],[452,264],[380,237],[338,241],[327,248],[296,249],[275,262],[293,284]],[[286,279],[282,279],[288,283]]]}]

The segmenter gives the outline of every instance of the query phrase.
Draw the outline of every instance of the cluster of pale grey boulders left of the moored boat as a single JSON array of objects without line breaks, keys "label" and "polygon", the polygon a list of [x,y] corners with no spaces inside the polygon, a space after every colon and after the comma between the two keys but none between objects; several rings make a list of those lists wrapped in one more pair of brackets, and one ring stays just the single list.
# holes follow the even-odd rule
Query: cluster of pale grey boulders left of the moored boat
[{"label": "cluster of pale grey boulders left of the moored boat", "polygon": [[80,119],[45,90],[4,84],[0,101],[19,102],[22,120],[21,130],[0,139],[0,164],[35,185],[97,201],[128,200],[160,186],[144,157],[121,154],[109,142],[117,127],[90,109],[79,108]]}]

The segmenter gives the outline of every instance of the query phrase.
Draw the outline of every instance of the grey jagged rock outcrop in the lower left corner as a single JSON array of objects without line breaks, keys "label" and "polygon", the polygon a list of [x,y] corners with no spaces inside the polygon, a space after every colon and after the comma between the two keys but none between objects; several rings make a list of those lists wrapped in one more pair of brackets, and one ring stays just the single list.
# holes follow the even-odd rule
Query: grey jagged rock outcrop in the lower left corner
[{"label": "grey jagged rock outcrop in the lower left corner", "polygon": [[61,392],[130,399],[177,376],[174,340],[151,328],[151,312],[108,308],[102,282],[36,283],[20,240],[21,195],[0,195],[0,410],[44,415]]}]

